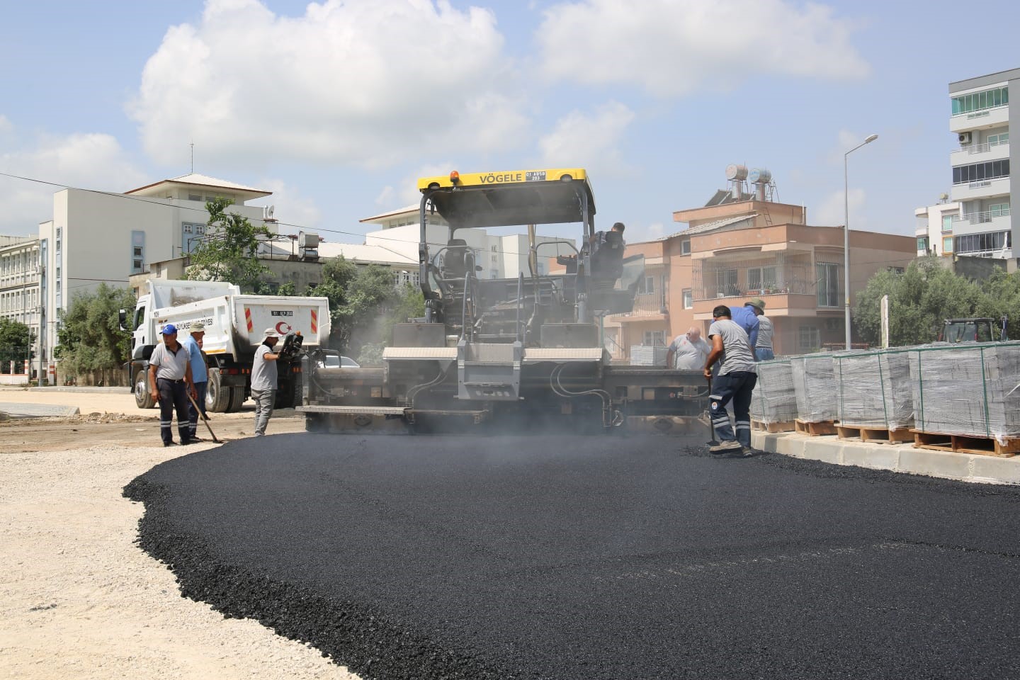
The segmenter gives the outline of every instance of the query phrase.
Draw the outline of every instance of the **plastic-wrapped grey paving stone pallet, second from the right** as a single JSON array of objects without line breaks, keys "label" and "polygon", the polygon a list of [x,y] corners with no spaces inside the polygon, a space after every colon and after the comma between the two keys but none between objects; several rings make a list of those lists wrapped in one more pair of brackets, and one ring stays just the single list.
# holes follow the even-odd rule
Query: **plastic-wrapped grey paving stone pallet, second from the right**
[{"label": "plastic-wrapped grey paving stone pallet, second from the right", "polygon": [[834,355],[836,432],[864,441],[913,441],[910,353],[884,350]]}]

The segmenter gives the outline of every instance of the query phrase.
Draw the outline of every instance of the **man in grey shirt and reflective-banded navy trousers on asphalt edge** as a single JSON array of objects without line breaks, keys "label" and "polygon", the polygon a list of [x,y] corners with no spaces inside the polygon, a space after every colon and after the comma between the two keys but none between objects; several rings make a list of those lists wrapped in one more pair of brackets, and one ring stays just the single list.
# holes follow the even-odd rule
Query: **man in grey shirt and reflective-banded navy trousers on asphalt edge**
[{"label": "man in grey shirt and reflective-banded navy trousers on asphalt edge", "polygon": [[[729,307],[719,305],[712,310],[712,325],[708,328],[712,351],[705,362],[705,377],[711,382],[709,400],[712,427],[719,443],[709,448],[713,454],[742,451],[751,456],[751,393],[758,381],[755,356],[747,331],[730,318]],[[719,374],[712,378],[712,365],[722,362]],[[726,404],[733,402],[736,435],[729,425]]]}]

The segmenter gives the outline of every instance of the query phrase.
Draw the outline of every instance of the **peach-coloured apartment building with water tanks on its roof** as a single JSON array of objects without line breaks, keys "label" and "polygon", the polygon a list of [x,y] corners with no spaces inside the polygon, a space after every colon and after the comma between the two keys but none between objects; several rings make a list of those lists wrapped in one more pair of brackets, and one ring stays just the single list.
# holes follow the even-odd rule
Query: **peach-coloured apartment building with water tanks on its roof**
[{"label": "peach-coloured apartment building with water tanks on its roof", "polygon": [[[604,320],[606,349],[628,361],[635,345],[670,339],[691,326],[703,331],[716,305],[765,301],[777,355],[845,345],[844,229],[807,223],[807,209],[744,192],[731,181],[701,208],[679,210],[683,230],[628,244],[646,258],[646,280],[630,314]],[[911,237],[850,232],[851,303],[877,271],[902,271],[916,257]]]}]

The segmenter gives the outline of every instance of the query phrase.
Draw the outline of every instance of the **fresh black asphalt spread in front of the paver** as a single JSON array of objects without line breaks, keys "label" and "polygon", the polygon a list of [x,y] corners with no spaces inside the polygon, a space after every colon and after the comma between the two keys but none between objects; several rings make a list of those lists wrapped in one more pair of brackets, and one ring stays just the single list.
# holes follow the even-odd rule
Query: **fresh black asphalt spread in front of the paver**
[{"label": "fresh black asphalt spread in front of the paver", "polygon": [[364,678],[1020,677],[1020,490],[700,443],[275,435],[124,493],[185,596]]}]

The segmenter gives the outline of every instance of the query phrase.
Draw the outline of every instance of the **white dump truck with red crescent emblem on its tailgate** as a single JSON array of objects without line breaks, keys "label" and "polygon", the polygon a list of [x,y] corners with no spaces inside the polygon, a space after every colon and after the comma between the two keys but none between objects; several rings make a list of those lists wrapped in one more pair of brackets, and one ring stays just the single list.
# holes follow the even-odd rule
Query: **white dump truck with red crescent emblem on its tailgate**
[{"label": "white dump truck with red crescent emblem on its tailgate", "polygon": [[[241,289],[224,281],[150,279],[132,314],[131,379],[135,403],[150,409],[148,362],[160,331],[167,323],[184,339],[191,325],[205,324],[202,352],[206,357],[209,383],[206,410],[238,411],[251,393],[251,369],[262,333],[273,328],[296,348],[291,360],[277,368],[279,383],[276,408],[291,408],[300,400],[300,351],[324,348],[330,329],[326,298],[242,295]],[[128,310],[120,310],[120,326],[128,325]],[[280,346],[283,347],[283,346]]]}]

